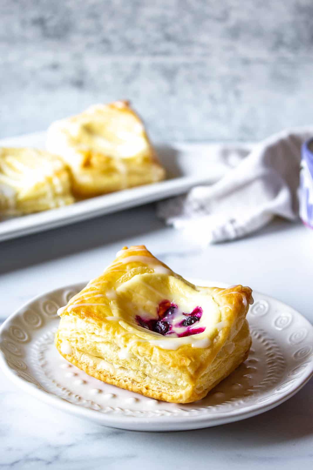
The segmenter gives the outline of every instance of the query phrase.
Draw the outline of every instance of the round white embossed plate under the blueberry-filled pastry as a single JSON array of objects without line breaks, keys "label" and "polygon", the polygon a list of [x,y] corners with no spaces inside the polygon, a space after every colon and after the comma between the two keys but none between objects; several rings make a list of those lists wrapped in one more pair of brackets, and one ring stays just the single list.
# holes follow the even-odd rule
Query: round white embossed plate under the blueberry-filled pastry
[{"label": "round white embossed plate under the blueberry-filled pastry", "polygon": [[254,292],[249,358],[206,398],[176,405],[104,384],[67,363],[53,345],[57,309],[84,285],[31,300],[0,329],[0,365],[6,375],[25,392],[74,415],[136,431],[205,428],[267,411],[298,392],[313,374],[313,326],[288,305]]}]

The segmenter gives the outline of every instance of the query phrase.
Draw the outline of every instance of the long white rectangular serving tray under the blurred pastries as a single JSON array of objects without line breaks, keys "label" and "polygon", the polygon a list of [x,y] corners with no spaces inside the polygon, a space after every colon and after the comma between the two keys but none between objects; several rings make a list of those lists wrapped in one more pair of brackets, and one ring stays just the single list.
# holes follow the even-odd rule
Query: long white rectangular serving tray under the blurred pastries
[{"label": "long white rectangular serving tray under the blurred pastries", "polygon": [[[45,141],[46,133],[35,133],[1,140],[0,146],[44,149]],[[251,144],[245,145],[251,147]],[[228,154],[224,149],[223,159],[218,159],[218,147],[218,144],[187,143],[157,146],[160,161],[167,170],[167,180],[92,197],[59,209],[2,220],[0,241],[176,196],[201,183],[213,183],[231,165],[231,151]]]}]

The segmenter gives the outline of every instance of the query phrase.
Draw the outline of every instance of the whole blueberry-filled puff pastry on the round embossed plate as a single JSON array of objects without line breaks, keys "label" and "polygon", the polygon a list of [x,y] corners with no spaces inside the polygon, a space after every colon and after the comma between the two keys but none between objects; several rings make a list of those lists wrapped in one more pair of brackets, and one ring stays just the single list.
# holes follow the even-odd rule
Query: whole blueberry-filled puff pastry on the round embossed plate
[{"label": "whole blueberry-filled puff pastry on the round embossed plate", "polygon": [[199,287],[145,246],[124,247],[61,316],[55,345],[108,384],[174,403],[206,396],[246,358],[249,287]]}]

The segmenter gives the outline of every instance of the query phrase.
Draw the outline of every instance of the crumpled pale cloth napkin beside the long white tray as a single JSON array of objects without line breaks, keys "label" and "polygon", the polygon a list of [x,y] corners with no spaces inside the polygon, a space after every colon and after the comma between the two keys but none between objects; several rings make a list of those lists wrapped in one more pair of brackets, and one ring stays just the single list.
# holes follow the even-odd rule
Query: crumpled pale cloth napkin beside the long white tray
[{"label": "crumpled pale cloth napkin beside the long white tray", "polygon": [[225,154],[232,157],[221,180],[160,202],[158,215],[201,244],[243,237],[275,215],[297,219],[301,145],[312,136],[311,126],[275,134],[252,145],[250,152],[246,146],[221,146],[221,160]]}]

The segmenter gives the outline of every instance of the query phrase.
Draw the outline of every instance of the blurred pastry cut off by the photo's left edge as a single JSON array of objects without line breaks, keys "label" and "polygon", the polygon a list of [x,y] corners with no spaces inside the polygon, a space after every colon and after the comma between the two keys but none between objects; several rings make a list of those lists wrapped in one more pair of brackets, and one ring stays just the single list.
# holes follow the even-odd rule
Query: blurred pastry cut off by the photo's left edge
[{"label": "blurred pastry cut off by the photo's left edge", "polygon": [[74,198],[61,158],[44,150],[0,148],[0,215],[45,211]]}]

